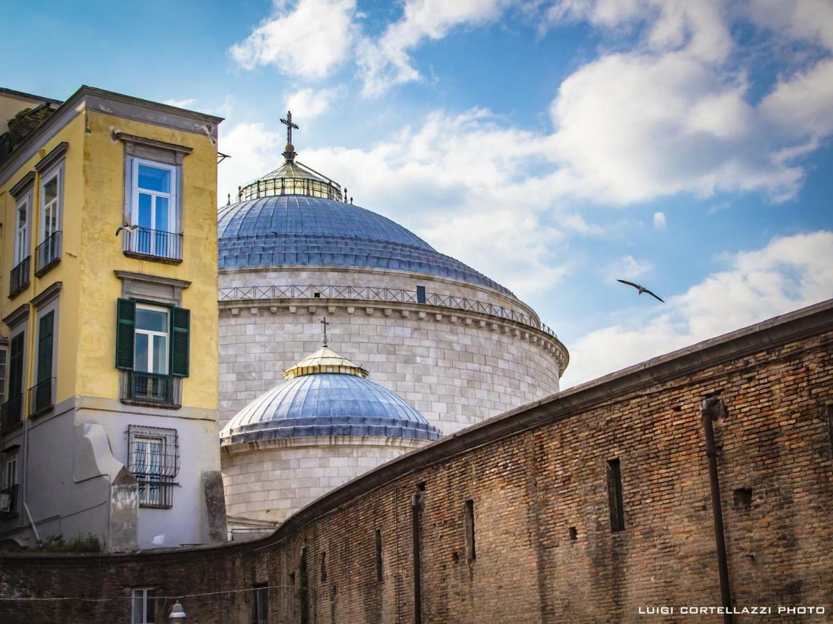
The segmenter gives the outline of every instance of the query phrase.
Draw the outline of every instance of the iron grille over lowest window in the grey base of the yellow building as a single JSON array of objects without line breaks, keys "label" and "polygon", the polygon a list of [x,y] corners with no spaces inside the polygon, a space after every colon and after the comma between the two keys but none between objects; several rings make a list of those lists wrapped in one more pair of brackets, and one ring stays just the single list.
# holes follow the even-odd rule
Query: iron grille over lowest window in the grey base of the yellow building
[{"label": "iron grille over lowest window in the grey base of the yellow building", "polygon": [[139,487],[139,505],[171,508],[174,479],[179,473],[179,436],[176,429],[127,427],[127,466]]}]

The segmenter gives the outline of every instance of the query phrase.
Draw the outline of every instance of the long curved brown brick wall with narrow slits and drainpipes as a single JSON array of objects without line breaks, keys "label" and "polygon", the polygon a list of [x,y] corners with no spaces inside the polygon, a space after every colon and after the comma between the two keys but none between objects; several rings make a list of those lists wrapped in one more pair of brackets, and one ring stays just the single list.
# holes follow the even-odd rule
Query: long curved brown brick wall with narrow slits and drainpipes
[{"label": "long curved brown brick wall with narrow slits and drainpipes", "polygon": [[[227,592],[183,597],[189,622],[250,622],[251,597],[240,590],[268,582],[270,622],[413,622],[412,495],[423,487],[422,622],[721,622],[637,613],[720,605],[701,424],[701,401],[713,393],[726,406],[715,431],[736,606],[824,606],[829,618],[831,340],[829,301],[651,360],[408,453],[257,542],[133,557],[4,557],[3,597],[112,600],[0,601],[0,620],[127,622],[125,588],[152,585],[170,597]],[[611,532],[608,507],[614,458],[620,532]]]}]

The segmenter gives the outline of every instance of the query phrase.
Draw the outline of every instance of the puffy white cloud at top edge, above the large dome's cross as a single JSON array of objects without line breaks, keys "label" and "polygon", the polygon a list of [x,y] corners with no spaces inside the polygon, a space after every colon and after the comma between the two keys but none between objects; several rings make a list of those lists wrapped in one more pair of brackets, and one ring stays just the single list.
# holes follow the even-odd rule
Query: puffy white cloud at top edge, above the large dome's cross
[{"label": "puffy white cloud at top edge, above the large dome's cross", "polygon": [[352,53],[356,0],[275,0],[275,13],[232,46],[244,69],[272,65],[304,78],[326,77]]}]

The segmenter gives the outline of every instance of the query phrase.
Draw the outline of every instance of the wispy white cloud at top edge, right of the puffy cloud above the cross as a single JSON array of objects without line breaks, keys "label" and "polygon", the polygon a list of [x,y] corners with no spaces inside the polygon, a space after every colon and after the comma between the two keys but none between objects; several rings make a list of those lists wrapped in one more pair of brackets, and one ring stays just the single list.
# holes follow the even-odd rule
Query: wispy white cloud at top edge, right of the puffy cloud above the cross
[{"label": "wispy white cloud at top edge, right of the puffy cloud above the cross", "polygon": [[455,27],[481,26],[501,16],[511,0],[407,0],[403,16],[377,41],[364,39],[357,48],[359,77],[365,96],[420,80],[409,52],[426,39],[441,39]]}]

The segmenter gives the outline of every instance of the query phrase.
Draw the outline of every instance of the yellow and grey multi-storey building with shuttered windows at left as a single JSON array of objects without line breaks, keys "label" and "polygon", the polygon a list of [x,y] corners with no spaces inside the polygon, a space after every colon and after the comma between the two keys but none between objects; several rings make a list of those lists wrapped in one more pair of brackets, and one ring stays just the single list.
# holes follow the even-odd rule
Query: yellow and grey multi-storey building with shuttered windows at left
[{"label": "yellow and grey multi-storey building with shuttered windows at left", "polygon": [[0,161],[0,542],[222,539],[220,121],[81,87]]}]

